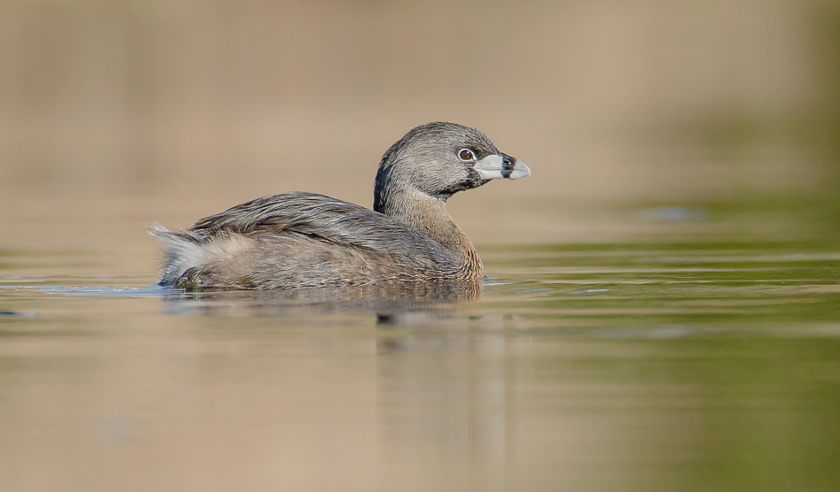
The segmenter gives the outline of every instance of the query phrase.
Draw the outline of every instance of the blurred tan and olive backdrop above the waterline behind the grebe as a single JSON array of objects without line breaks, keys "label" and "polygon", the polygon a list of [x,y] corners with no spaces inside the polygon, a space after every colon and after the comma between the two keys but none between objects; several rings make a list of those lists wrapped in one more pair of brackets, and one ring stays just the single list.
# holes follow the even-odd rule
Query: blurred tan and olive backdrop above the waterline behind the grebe
[{"label": "blurred tan and olive backdrop above the waterline behind the grebe", "polygon": [[452,200],[479,248],[691,227],[630,213],[662,206],[824,227],[838,32],[819,0],[6,1],[0,249],[149,273],[145,224],[294,189],[370,206],[382,152],[438,119],[534,173]]}]

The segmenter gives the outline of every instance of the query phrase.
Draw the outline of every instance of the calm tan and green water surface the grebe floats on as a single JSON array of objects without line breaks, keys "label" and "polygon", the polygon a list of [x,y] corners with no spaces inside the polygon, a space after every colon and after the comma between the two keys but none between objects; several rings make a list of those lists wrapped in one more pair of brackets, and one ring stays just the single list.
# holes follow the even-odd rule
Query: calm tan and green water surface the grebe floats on
[{"label": "calm tan and green water surface the grebe floats on", "polygon": [[483,253],[477,302],[0,277],[4,489],[840,487],[836,245]]}]

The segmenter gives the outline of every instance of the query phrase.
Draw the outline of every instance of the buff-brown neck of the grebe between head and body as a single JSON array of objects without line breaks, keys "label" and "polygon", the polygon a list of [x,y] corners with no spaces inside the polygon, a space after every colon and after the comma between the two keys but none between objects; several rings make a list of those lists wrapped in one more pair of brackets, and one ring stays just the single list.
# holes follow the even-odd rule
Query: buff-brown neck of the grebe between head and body
[{"label": "buff-brown neck of the grebe between head and body", "polygon": [[378,196],[374,210],[426,234],[447,250],[458,252],[466,269],[477,276],[484,275],[475,246],[447,212],[445,200],[413,188],[395,188]]}]

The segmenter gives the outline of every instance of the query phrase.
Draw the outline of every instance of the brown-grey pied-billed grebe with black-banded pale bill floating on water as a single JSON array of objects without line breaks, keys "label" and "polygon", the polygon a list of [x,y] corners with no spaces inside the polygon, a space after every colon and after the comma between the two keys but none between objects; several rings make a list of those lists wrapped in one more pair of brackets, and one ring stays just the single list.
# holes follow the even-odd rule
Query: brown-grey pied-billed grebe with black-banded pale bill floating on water
[{"label": "brown-grey pied-billed grebe with black-banded pale bill floating on water", "polygon": [[160,225],[164,286],[319,288],[401,281],[480,282],[484,268],[447,198],[531,170],[454,123],[409,131],[379,163],[373,211],[294,191],[263,196],[183,232]]}]

